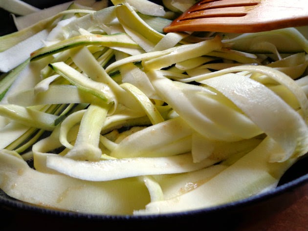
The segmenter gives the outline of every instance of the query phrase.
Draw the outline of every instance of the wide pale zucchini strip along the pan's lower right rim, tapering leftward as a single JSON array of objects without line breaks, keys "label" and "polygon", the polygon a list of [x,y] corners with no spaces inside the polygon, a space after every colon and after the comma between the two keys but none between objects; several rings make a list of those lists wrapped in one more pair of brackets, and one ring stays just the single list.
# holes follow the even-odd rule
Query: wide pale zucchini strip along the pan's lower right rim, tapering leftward
[{"label": "wide pale zucchini strip along the pan's lower right rim, tapering leftward", "polygon": [[296,159],[283,163],[268,163],[273,152],[280,147],[266,138],[258,147],[246,154],[215,177],[185,194],[169,200],[151,202],[136,214],[160,214],[204,209],[241,200],[276,187],[282,174]]}]

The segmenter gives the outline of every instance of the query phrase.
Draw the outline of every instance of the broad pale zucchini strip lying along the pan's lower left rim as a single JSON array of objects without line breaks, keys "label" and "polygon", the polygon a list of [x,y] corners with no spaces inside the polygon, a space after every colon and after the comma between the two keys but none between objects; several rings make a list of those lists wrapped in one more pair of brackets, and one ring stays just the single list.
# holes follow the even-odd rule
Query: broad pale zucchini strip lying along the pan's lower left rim
[{"label": "broad pale zucchini strip lying along the pan's lower left rim", "polygon": [[0,185],[7,195],[27,203],[85,213],[132,214],[150,201],[138,179],[90,182],[43,173],[5,150],[0,151]]}]

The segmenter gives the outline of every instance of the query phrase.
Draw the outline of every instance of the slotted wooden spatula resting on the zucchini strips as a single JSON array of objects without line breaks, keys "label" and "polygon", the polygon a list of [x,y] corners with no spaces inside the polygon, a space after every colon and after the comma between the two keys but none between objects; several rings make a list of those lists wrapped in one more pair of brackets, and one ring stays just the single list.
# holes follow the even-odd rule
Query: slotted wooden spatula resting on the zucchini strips
[{"label": "slotted wooden spatula resting on the zucchini strips", "polygon": [[167,32],[250,33],[308,25],[308,0],[201,0]]}]

